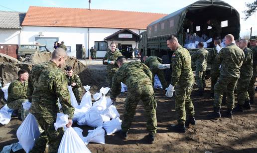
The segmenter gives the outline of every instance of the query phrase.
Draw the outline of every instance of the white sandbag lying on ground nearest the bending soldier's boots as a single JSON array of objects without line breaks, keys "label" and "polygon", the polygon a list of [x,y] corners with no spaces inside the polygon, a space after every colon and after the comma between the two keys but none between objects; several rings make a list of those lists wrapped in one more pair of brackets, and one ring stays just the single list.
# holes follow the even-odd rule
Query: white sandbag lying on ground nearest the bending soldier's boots
[{"label": "white sandbag lying on ground nearest the bending soldier's boots", "polygon": [[122,130],[121,125],[122,125],[122,120],[120,120],[120,118],[116,118],[111,121],[105,122],[103,124],[103,128],[105,129],[107,135],[112,135]]}]

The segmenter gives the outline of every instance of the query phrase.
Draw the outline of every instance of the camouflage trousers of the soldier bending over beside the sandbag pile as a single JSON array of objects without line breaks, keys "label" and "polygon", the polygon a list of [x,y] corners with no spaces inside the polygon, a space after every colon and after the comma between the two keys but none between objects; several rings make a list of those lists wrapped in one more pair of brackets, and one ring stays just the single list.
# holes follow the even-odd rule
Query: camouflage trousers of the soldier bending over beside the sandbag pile
[{"label": "camouflage trousers of the soldier bending over beside the sandbag pile", "polygon": [[157,103],[151,85],[142,86],[133,89],[133,91],[128,91],[128,96],[124,104],[125,112],[123,115],[122,131],[127,132],[129,130],[139,100],[143,102],[145,110],[145,117],[147,120],[146,129],[149,134],[156,134],[157,119],[155,109],[157,107]]}]

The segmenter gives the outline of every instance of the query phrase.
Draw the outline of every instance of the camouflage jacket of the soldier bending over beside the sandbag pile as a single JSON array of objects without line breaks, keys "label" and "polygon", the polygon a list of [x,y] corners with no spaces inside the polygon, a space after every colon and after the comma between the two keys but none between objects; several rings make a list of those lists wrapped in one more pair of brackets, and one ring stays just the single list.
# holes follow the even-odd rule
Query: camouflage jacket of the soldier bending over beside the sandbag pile
[{"label": "camouflage jacket of the soldier bending over beside the sandbag pile", "polygon": [[152,73],[139,61],[124,63],[113,77],[111,98],[121,93],[121,82],[128,86],[128,92],[133,92],[136,88],[152,85]]}]

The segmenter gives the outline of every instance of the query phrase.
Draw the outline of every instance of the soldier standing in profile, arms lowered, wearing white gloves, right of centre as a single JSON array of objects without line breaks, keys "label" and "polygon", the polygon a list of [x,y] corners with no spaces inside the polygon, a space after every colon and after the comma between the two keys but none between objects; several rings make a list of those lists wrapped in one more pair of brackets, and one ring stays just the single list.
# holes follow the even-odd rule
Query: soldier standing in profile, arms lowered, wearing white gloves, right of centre
[{"label": "soldier standing in profile, arms lowered, wearing white gloves, right of centre", "polygon": [[[171,57],[171,82],[166,88],[166,96],[172,97],[176,87],[175,110],[177,114],[177,125],[171,125],[170,130],[185,133],[185,125],[195,125],[194,105],[191,100],[191,92],[194,85],[194,75],[191,68],[191,56],[187,49],[183,48],[175,36],[167,39],[167,46],[174,51]],[[187,117],[187,119],[186,119]]]}]

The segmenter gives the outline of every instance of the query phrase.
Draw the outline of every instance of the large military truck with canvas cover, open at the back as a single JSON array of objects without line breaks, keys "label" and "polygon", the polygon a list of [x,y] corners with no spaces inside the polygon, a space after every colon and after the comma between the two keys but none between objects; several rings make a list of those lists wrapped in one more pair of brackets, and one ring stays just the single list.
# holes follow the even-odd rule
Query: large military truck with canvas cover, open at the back
[{"label": "large military truck with canvas cover, open at the back", "polygon": [[[238,11],[222,0],[199,0],[171,14],[168,14],[147,26],[146,31],[140,33],[139,51],[141,55],[155,55],[171,59],[172,52],[168,51],[166,40],[169,36],[175,35],[179,43],[184,46],[186,38],[195,33],[202,36],[211,32],[212,27],[207,26],[208,20],[215,20],[221,26],[220,37],[233,34],[235,39],[239,38],[240,17]],[[188,22],[191,22],[188,25]],[[208,29],[205,29],[205,27]],[[209,38],[214,39],[212,36]],[[196,47],[195,45],[194,47]],[[197,48],[188,48],[192,54]],[[205,49],[210,50],[213,41],[208,43]],[[168,61],[170,63],[170,61]],[[192,64],[194,66],[194,64]],[[210,74],[210,73],[206,73]]]}]

